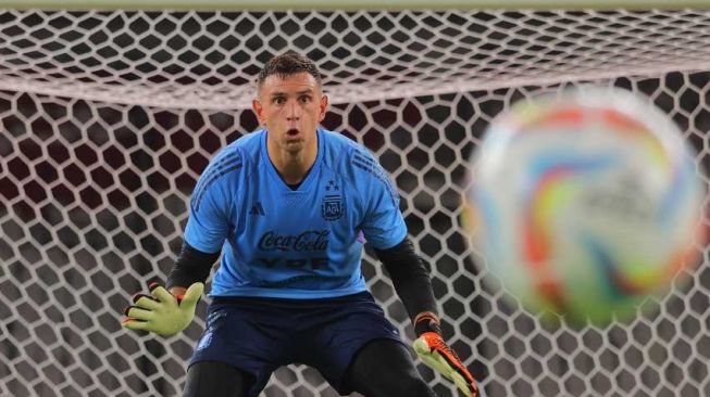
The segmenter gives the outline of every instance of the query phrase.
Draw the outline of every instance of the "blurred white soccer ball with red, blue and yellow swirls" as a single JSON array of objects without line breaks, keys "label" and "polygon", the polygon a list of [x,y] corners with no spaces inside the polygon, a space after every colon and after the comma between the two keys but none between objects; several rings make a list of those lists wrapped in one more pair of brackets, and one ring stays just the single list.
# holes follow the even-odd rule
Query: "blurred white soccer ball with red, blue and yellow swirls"
[{"label": "blurred white soccer ball with red, blue and yellow swirls", "polygon": [[473,155],[464,226],[526,308],[626,319],[703,244],[694,158],[672,120],[630,91],[521,101]]}]

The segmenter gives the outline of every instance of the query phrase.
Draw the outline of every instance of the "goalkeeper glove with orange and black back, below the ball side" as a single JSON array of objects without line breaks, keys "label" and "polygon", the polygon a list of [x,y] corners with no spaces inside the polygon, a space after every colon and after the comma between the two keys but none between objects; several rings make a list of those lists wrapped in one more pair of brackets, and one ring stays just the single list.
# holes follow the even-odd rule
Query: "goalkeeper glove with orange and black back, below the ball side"
[{"label": "goalkeeper glove with orange and black back, below the ball side", "polygon": [[425,331],[414,341],[413,347],[422,361],[453,382],[466,397],[478,397],[478,385],[459,356],[444,342],[434,315],[426,313],[416,320],[415,329]]}]

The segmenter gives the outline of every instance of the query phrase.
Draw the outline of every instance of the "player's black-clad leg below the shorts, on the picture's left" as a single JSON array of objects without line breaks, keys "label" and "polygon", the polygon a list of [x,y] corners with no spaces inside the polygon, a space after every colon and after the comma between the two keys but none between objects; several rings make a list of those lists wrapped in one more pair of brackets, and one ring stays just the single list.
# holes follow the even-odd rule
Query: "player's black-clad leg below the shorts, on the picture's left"
[{"label": "player's black-clad leg below the shorts, on the picture's left", "polygon": [[187,370],[183,397],[247,397],[254,377],[219,361],[196,362]]}]

